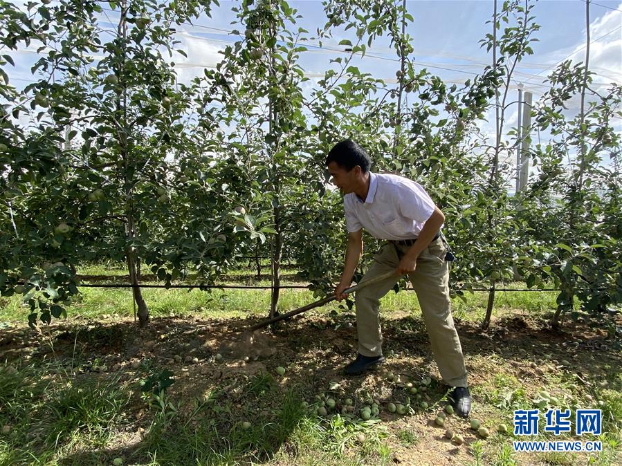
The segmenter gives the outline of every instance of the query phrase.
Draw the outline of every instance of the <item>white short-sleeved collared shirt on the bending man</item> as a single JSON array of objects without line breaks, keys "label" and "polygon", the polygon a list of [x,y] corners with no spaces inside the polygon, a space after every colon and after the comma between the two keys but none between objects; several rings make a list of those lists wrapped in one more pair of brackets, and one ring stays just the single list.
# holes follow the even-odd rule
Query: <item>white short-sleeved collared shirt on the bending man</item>
[{"label": "white short-sleeved collared shirt on the bending man", "polygon": [[354,193],[343,196],[348,232],[365,228],[378,239],[417,238],[435,204],[419,183],[399,175],[369,172],[365,202]]}]

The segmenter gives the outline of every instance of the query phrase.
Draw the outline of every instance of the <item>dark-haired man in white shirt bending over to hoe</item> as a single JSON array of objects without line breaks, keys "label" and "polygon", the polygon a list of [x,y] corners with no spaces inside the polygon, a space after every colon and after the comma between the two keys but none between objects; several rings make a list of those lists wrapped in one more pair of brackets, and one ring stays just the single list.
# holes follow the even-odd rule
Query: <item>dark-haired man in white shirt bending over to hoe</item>
[{"label": "dark-haired man in white shirt bending over to hoe", "polygon": [[432,353],[443,381],[455,387],[453,407],[466,418],[470,393],[460,339],[450,310],[449,267],[440,230],[445,216],[419,183],[408,178],[369,171],[371,160],[356,142],[344,140],[329,152],[326,164],[332,182],[342,194],[348,230],[345,265],[335,289],[338,301],[347,297],[363,252],[363,228],[378,239],[388,240],[360,283],[395,270],[394,277],[356,292],[358,356],[345,367],[348,375],[381,364],[382,335],[379,299],[393,288],[400,275],[408,274],[417,292],[426,322]]}]

